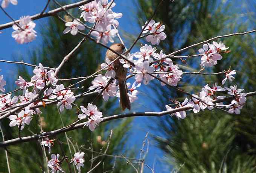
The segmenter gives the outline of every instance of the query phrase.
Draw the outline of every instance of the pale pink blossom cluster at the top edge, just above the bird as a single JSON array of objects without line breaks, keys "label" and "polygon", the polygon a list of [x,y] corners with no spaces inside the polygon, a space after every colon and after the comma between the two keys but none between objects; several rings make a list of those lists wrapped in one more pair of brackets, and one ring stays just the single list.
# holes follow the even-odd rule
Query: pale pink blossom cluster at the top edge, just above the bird
[{"label": "pale pink blossom cluster at the top edge, just above the bird", "polygon": [[[108,42],[114,42],[113,38],[118,33],[116,28],[119,26],[119,22],[116,20],[122,17],[122,13],[115,13],[112,8],[116,3],[108,3],[108,0],[95,0],[80,6],[82,10],[80,18],[83,18],[85,22],[94,23],[94,29],[91,35],[94,36],[97,42],[107,44]],[[82,24],[79,18],[74,19],[73,22],[66,23],[67,28],[63,33],[70,32],[72,35],[76,35],[78,30],[84,30],[85,25]]]}]

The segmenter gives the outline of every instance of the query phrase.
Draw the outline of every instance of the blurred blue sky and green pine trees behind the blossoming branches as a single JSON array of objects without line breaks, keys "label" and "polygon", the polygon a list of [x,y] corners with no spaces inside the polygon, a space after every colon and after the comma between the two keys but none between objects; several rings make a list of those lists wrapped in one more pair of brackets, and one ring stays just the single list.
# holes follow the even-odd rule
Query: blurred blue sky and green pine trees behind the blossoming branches
[{"label": "blurred blue sky and green pine trees behind the blossoming branches", "polygon": [[[59,0],[69,4],[72,0]],[[115,0],[114,12],[122,12],[123,17],[118,21],[119,32],[124,39],[126,47],[129,47],[139,34],[141,26],[151,17],[159,0]],[[47,0],[18,1],[18,5],[9,5],[6,8],[8,14],[14,19],[23,15],[40,13]],[[47,10],[57,8],[53,2]],[[74,16],[79,17],[81,11],[78,8],[69,10]],[[167,38],[157,46],[158,52],[163,50],[168,54],[174,50],[204,41],[218,35],[234,32],[244,32],[255,29],[256,2],[254,0],[175,0],[171,3],[165,0],[157,14],[153,18],[165,25]],[[65,13],[59,13],[64,17]],[[10,19],[0,12],[0,24],[9,22]],[[19,45],[11,37],[12,28],[2,30],[0,33],[0,59],[10,61],[29,62],[46,67],[57,67],[62,58],[67,55],[82,39],[81,36],[62,34],[64,24],[58,18],[48,17],[34,21],[37,26],[37,38],[29,44]],[[86,31],[85,31],[86,33]],[[235,82],[238,88],[244,88],[245,92],[256,91],[256,49],[255,34],[233,36],[219,39],[231,52],[225,54],[213,68],[206,68],[205,72],[219,72],[235,69]],[[116,38],[115,42],[119,42]],[[140,40],[132,52],[139,50],[145,44]],[[195,55],[202,45],[182,52],[179,55]],[[60,79],[88,76],[104,61],[105,49],[94,42],[86,41],[72,56],[60,72]],[[183,71],[200,70],[200,57],[188,58],[186,63],[175,60]],[[6,90],[12,91],[17,86],[15,80],[23,76],[29,80],[32,76],[32,67],[6,64],[0,62],[0,75],[7,82]],[[198,93],[201,88],[209,83],[221,83],[223,76],[199,76],[183,75],[179,87],[189,93]],[[75,81],[64,82],[64,86]],[[131,81],[133,80],[131,79]],[[91,80],[85,81],[84,90],[91,85]],[[84,92],[76,91],[76,93]],[[132,105],[131,111],[163,111],[169,99],[184,100],[182,93],[177,93],[167,87],[160,86],[157,81],[150,85],[138,88],[139,100]],[[21,93],[20,93],[21,94]],[[14,96],[14,94],[13,94]],[[77,99],[77,105],[87,105],[94,97]],[[117,99],[108,102],[97,103],[104,116],[120,112]],[[42,108],[41,117],[33,117],[29,126],[22,131],[22,136],[40,133],[41,124],[43,131],[48,132],[63,125],[66,126],[76,120],[76,108],[72,111],[64,111],[61,115],[56,106]],[[77,151],[85,152],[85,166],[82,172],[90,170],[99,161],[102,164],[93,172],[131,173],[136,172],[131,164],[136,159],[145,156],[145,163],[155,173],[253,173],[256,171],[256,99],[250,97],[240,115],[227,114],[219,110],[204,111],[198,114],[188,114],[183,120],[178,120],[169,115],[163,117],[136,117],[101,123],[91,133],[87,128],[79,129],[57,137],[62,142],[62,147],[69,158]],[[16,128],[9,127],[9,120],[1,122],[5,140],[18,137]],[[113,129],[110,147],[107,154],[98,157],[91,164],[91,153],[97,156],[107,147],[106,141]],[[142,149],[145,135],[148,132],[146,146]],[[66,138],[67,136],[67,138]],[[2,141],[2,137],[0,137]],[[68,145],[69,144],[69,145]],[[91,147],[92,146],[92,147]],[[148,148],[148,152],[147,151]],[[46,171],[46,161],[38,141],[22,143],[7,147],[11,172],[35,173]],[[142,151],[141,151],[142,149]],[[6,166],[5,150],[0,149],[0,173],[8,172]],[[55,142],[52,153],[60,153],[59,144]],[[48,153],[47,153],[48,155]],[[117,156],[116,156],[117,155]],[[126,157],[123,158],[123,156]],[[48,155],[50,158],[50,155]],[[113,166],[114,165],[114,166]],[[62,168],[68,172],[66,163]],[[134,164],[136,168],[138,164]],[[73,167],[72,167],[73,168]],[[139,169],[141,171],[141,169]],[[150,173],[144,167],[144,173]]]}]

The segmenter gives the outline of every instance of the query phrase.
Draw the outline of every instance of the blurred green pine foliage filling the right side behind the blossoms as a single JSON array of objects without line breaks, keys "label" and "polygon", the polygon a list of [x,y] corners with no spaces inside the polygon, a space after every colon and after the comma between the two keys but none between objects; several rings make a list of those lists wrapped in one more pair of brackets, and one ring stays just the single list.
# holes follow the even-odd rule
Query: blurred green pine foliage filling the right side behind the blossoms
[{"label": "blurred green pine foliage filling the right side behind the blossoms", "polygon": [[[138,23],[142,26],[154,11],[159,0],[139,0],[140,18]],[[223,1],[224,2],[224,1]],[[223,3],[217,0],[181,0],[164,1],[158,10],[155,21],[165,24],[167,38],[158,46],[158,50],[171,53],[174,50],[190,46],[214,36],[233,32],[250,30],[254,23],[244,22],[238,14],[235,2]],[[255,4],[254,4],[255,5]],[[251,17],[253,18],[253,17]],[[253,35],[254,36],[254,35]],[[255,44],[252,35],[233,36],[219,39],[230,47],[231,52],[223,55],[223,59],[214,68],[206,68],[205,72],[219,72],[236,70],[236,80],[230,85],[237,84],[238,88],[244,88],[245,92],[255,91]],[[201,48],[189,49],[180,55],[195,55]],[[176,61],[181,64],[181,61]],[[188,58],[187,64],[181,68],[198,69],[200,57]],[[186,69],[186,70],[187,70]],[[198,76],[183,75],[180,88],[190,93],[198,93],[202,86],[214,81],[221,83],[222,76]],[[159,82],[155,84],[160,85]],[[154,89],[157,88],[157,89]],[[169,98],[184,100],[182,93],[175,90],[155,87],[155,102],[161,110],[169,103]],[[180,165],[180,172],[184,173],[217,173],[217,172],[246,172],[255,171],[255,98],[248,98],[240,115],[230,115],[221,110],[204,111],[198,114],[190,113],[184,120],[165,116],[158,118],[157,130],[161,135],[155,136],[158,147],[165,152],[165,161],[174,165],[176,169]],[[154,119],[155,120],[155,119]]]}]

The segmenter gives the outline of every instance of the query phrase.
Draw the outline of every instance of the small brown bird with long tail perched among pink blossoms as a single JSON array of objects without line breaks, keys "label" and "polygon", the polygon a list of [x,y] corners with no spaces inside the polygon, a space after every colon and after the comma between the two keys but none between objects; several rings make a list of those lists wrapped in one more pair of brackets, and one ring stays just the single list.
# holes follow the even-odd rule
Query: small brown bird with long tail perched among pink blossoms
[{"label": "small brown bird with long tail perched among pink blossoms", "polygon": [[[125,46],[122,43],[116,43],[116,44],[111,45],[110,49],[113,49],[117,53],[122,54],[123,50],[125,49]],[[114,61],[114,59],[116,59],[117,57],[118,57],[118,55],[116,55],[116,53],[112,52],[111,50],[108,50],[106,52],[106,58],[108,58],[110,61]],[[116,72],[116,78],[119,83],[120,106],[123,111],[125,110],[125,108],[130,110],[131,103],[129,100],[129,96],[127,94],[127,87],[126,87],[127,68],[124,68],[123,64],[121,64],[119,59],[117,59],[114,62],[114,71]]]}]

